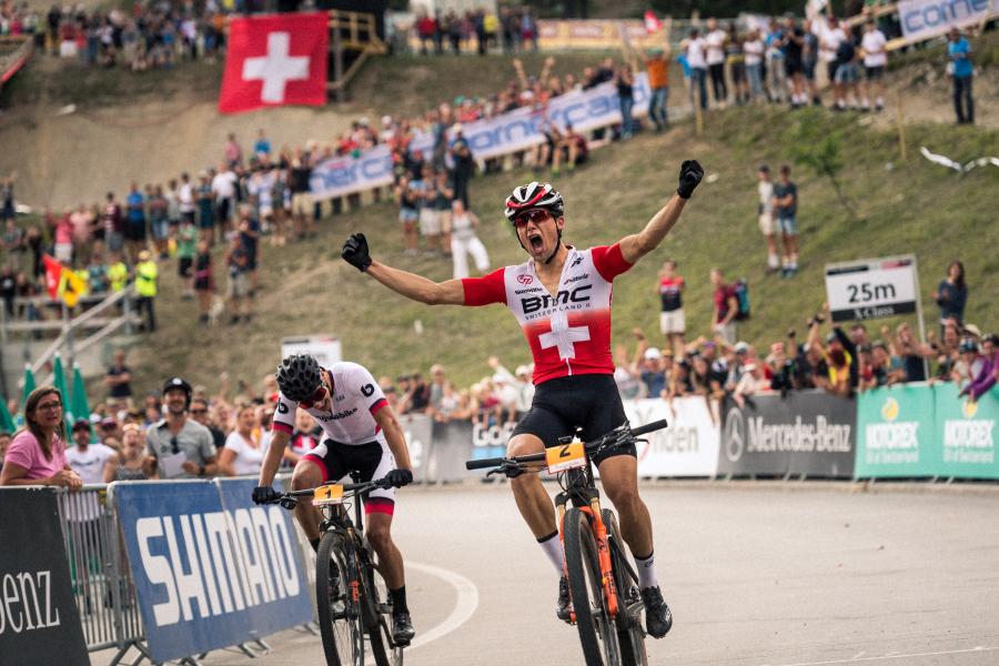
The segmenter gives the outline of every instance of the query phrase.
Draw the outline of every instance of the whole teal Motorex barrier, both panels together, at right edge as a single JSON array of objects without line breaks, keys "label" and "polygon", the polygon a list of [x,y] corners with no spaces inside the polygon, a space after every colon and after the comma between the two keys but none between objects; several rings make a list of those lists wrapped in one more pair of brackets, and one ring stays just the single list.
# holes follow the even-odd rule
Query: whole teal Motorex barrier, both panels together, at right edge
[{"label": "whole teal Motorex barrier, both panels together, at right edge", "polygon": [[950,382],[877,389],[857,411],[858,478],[999,478],[999,389],[977,402]]}]

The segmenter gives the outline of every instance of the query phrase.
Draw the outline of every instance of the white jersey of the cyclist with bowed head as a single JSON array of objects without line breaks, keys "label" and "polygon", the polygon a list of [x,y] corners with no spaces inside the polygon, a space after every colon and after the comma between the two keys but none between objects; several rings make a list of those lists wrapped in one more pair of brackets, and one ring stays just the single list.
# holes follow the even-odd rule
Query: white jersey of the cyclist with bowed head
[{"label": "white jersey of the cyclist with bowed head", "polygon": [[[326,436],[341,444],[367,444],[381,442],[386,444],[385,435],[375,421],[374,415],[389,402],[385,394],[367,369],[357,363],[342,361],[329,369],[333,377],[333,408],[330,412],[310,408],[315,422]],[[278,407],[274,410],[272,431],[285,432],[289,435],[295,428],[295,411],[299,404],[283,394],[278,394]]]}]

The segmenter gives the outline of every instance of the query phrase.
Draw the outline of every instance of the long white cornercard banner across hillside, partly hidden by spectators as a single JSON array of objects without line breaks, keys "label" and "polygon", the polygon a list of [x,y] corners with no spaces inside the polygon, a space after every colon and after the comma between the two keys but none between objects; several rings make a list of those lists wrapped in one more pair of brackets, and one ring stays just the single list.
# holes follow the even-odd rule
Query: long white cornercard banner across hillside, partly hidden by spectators
[{"label": "long white cornercard banner across hillside, partly hidden by spectators", "polygon": [[[648,78],[635,75],[636,117],[647,113]],[[553,98],[545,105],[523,107],[495,118],[463,124],[463,132],[476,160],[486,160],[522,150],[545,141],[549,124],[565,129],[572,124],[576,131],[586,132],[620,122],[620,107],[614,83],[603,83],[589,90],[574,90]],[[454,133],[450,137],[454,141]],[[430,154],[433,138],[417,134],[411,150]],[[316,200],[333,199],[354,192],[391,184],[392,155],[385,144],[360,153],[357,157],[337,155],[316,164],[312,170],[310,189]]]}]

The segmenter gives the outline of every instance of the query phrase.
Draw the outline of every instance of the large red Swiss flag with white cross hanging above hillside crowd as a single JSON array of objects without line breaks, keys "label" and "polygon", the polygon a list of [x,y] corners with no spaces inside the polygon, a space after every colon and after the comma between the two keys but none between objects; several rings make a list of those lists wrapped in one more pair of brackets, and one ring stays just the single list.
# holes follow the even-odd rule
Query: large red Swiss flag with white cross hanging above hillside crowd
[{"label": "large red Swiss flag with white cross hanging above hillside crowd", "polygon": [[326,103],[325,12],[233,19],[219,111]]}]

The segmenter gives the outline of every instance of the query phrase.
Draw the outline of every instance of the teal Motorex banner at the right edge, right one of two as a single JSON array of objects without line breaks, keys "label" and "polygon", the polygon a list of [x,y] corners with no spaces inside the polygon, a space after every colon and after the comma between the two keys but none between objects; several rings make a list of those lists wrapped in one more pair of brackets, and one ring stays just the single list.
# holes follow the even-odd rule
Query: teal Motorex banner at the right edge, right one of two
[{"label": "teal Motorex banner at the right edge, right one of two", "polygon": [[996,442],[999,432],[999,389],[977,401],[958,397],[952,383],[934,386],[936,438],[940,446],[941,476],[999,478]]}]

